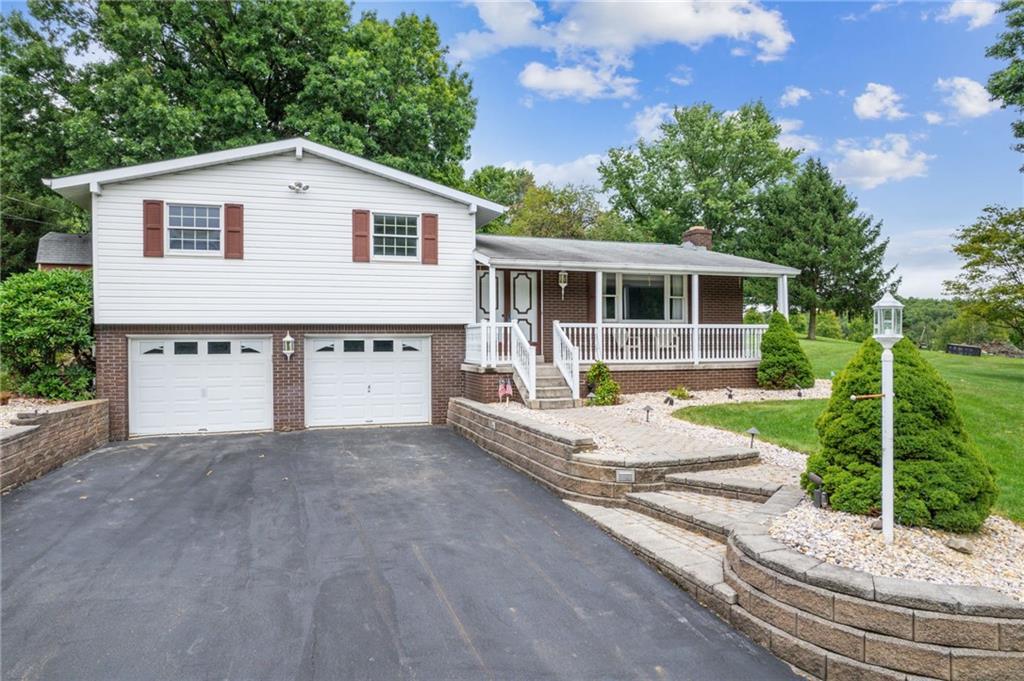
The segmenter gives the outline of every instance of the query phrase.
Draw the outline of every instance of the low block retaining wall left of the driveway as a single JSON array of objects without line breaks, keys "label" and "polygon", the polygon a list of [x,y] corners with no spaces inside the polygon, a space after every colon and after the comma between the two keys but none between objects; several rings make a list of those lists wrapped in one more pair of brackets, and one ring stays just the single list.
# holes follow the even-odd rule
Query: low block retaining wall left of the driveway
[{"label": "low block retaining wall left of the driveway", "polygon": [[105,399],[19,414],[0,431],[0,492],[35,479],[108,441]]}]

